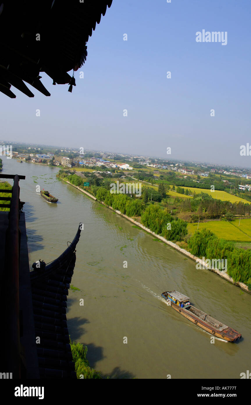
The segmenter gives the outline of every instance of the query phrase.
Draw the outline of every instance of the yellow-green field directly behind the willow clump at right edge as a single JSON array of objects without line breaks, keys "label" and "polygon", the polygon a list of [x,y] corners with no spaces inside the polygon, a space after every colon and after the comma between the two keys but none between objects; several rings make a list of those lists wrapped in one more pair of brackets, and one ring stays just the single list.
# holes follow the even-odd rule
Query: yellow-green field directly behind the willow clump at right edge
[{"label": "yellow-green field directly behind the willow clump at right edge", "polygon": [[[235,222],[234,220],[233,222]],[[239,221],[239,220],[238,220]],[[245,220],[240,220],[245,221]],[[247,220],[248,221],[248,220]],[[251,220],[249,220],[251,221]],[[238,225],[238,224],[237,224]],[[198,223],[188,224],[188,233],[194,234],[197,230]],[[240,229],[237,229],[231,222],[227,221],[209,221],[209,222],[200,222],[199,230],[206,228],[211,230],[218,238],[226,239],[227,241],[251,241],[251,232],[250,237],[243,233]],[[243,229],[244,230],[244,229]],[[246,231],[244,231],[246,232]],[[248,232],[246,232],[248,233]]]}]

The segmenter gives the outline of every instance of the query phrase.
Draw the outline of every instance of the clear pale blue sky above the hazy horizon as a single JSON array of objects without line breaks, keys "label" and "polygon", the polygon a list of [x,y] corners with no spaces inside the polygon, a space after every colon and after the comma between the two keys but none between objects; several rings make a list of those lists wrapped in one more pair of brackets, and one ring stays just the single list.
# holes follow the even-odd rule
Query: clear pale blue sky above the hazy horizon
[{"label": "clear pale blue sky above the hazy horizon", "polygon": [[[51,97],[0,94],[1,137],[251,167],[250,12],[246,0],[113,0],[72,93],[41,73]],[[227,45],[197,43],[203,29]]]}]

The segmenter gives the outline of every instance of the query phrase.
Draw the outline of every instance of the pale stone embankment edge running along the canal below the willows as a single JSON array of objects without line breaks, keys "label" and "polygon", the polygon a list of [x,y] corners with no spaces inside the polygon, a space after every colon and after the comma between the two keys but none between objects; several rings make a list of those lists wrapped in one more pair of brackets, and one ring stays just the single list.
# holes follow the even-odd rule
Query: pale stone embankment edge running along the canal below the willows
[{"label": "pale stone embankment edge running along the canal below the willows", "polygon": [[[73,187],[77,188],[78,190],[80,190],[81,192],[83,192],[84,194],[86,194],[87,196],[93,198],[93,200],[97,201],[97,198],[94,197],[92,194],[90,194],[89,192],[87,192],[86,190],[83,190],[80,187],[77,187],[76,185],[73,185],[72,183],[70,183],[70,181],[67,180],[63,180],[66,183],[72,185]],[[185,256],[189,257],[190,259],[194,260],[196,263],[201,264],[202,269],[207,269],[210,271],[213,271],[213,273],[216,273],[217,275],[219,275],[220,277],[224,278],[226,281],[229,281],[230,283],[234,284],[235,286],[240,287],[242,290],[248,292],[249,294],[251,294],[251,291],[249,291],[249,288],[246,284],[241,283],[241,282],[234,282],[234,280],[232,279],[232,277],[230,277],[228,274],[223,273],[222,271],[218,270],[218,269],[210,269],[209,265],[207,263],[205,263],[204,260],[200,259],[197,256],[194,256],[193,254],[191,254],[190,252],[188,252],[185,249],[182,249],[181,247],[179,247],[178,245],[176,245],[176,243],[173,243],[171,241],[168,241],[167,239],[165,239],[164,237],[156,234],[155,232],[151,231],[149,228],[146,228],[145,226],[143,226],[142,224],[140,224],[139,222],[133,220],[133,218],[128,217],[125,214],[122,214],[120,211],[113,209],[112,207],[108,207],[107,205],[105,205],[103,203],[103,201],[101,201],[101,204],[103,204],[105,207],[110,208],[112,211],[116,212],[118,215],[121,215],[122,217],[124,217],[126,220],[132,222],[134,225],[138,226],[139,228],[145,230],[146,232],[152,234],[155,238],[159,239],[160,241],[166,243],[167,245],[171,246],[173,249],[177,250],[178,252],[184,254]]]}]

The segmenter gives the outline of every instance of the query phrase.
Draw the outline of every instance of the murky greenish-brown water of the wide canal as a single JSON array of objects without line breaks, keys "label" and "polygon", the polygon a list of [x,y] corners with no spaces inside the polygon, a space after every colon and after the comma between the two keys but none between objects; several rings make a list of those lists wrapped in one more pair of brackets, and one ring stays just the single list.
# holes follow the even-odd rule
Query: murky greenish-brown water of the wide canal
[{"label": "murky greenish-brown water of the wide canal", "polygon": [[[30,265],[57,258],[84,223],[72,278],[79,290],[69,292],[67,322],[72,340],[87,345],[91,366],[111,378],[238,379],[250,370],[251,295],[196,270],[191,259],[58,180],[57,171],[3,158],[2,173],[26,176],[19,184]],[[59,202],[47,203],[36,185]],[[172,289],[242,340],[211,343],[211,335],[167,306],[160,294]]]}]

